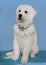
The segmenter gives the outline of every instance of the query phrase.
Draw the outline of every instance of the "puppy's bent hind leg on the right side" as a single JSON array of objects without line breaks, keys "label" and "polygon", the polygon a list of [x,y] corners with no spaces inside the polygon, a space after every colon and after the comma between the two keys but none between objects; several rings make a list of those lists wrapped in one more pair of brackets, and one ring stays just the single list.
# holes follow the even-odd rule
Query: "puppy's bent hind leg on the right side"
[{"label": "puppy's bent hind leg on the right side", "polygon": [[35,35],[35,37],[33,38],[33,43],[32,43],[32,49],[31,49],[31,54],[30,57],[35,58],[35,55],[39,52],[39,48],[37,45],[37,37]]}]

